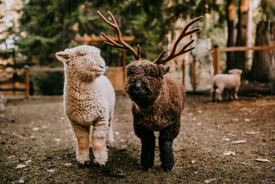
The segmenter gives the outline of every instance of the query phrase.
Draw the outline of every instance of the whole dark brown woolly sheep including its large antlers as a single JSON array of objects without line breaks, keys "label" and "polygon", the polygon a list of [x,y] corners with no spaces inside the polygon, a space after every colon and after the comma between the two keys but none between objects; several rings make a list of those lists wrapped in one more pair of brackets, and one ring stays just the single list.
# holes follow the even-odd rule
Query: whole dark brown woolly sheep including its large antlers
[{"label": "whole dark brown woolly sheep including its large antlers", "polygon": [[137,52],[126,44],[120,35],[117,22],[113,15],[108,12],[113,23],[109,22],[101,13],[99,16],[117,32],[119,42],[111,40],[104,33],[101,33],[109,42],[105,44],[114,48],[123,48],[129,50],[135,57],[134,62],[126,66],[125,90],[132,102],[133,125],[136,136],[141,139],[141,165],[147,171],[151,170],[154,165],[154,131],[159,132],[159,150],[161,166],[165,171],[172,171],[174,166],[173,140],[180,132],[180,117],[185,102],[184,86],[174,79],[171,75],[166,74],[169,67],[160,65],[176,56],[191,51],[195,47],[185,50],[194,40],[186,44],[180,52],[175,53],[177,44],[180,40],[199,28],[186,32],[188,27],[202,17],[198,17],[184,27],[181,35],[177,39],[174,48],[169,56],[162,58],[166,52],[164,50],[158,59],[152,63],[147,60],[140,60],[140,47]]}]

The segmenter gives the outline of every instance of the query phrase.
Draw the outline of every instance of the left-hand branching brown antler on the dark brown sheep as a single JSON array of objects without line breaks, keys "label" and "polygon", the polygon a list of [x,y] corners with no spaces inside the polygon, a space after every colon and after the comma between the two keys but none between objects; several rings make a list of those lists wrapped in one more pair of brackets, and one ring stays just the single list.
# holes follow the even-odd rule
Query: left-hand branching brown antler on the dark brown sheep
[{"label": "left-hand branching brown antler on the dark brown sheep", "polygon": [[130,52],[132,52],[132,54],[134,55],[135,57],[135,60],[140,60],[140,46],[137,45],[137,52],[132,48],[130,47],[128,44],[126,44],[122,38],[121,38],[121,34],[120,34],[120,30],[118,28],[118,25],[117,25],[117,21],[115,20],[115,18],[113,17],[112,13],[108,11],[108,14],[110,15],[113,23],[109,22],[99,11],[97,11],[98,15],[103,19],[103,21],[105,21],[108,25],[110,25],[113,29],[116,30],[116,33],[117,33],[117,38],[119,40],[119,42],[122,44],[118,44],[117,42],[115,42],[114,40],[110,39],[108,36],[106,36],[104,33],[101,33],[102,36],[104,36],[104,38],[106,38],[106,40],[108,40],[109,42],[105,41],[104,44],[106,45],[109,45],[110,47],[113,47],[113,48],[122,48],[122,49],[125,49],[125,50],[128,50]]}]

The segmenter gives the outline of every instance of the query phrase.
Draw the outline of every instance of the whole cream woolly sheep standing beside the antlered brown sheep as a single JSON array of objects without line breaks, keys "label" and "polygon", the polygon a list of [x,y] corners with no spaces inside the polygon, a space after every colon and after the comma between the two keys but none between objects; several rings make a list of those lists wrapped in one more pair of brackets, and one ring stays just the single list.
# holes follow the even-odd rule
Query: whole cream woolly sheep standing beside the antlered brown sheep
[{"label": "whole cream woolly sheep standing beside the antlered brown sheep", "polygon": [[113,86],[103,75],[105,61],[98,48],[88,45],[65,49],[56,57],[64,63],[64,109],[77,138],[76,159],[82,165],[90,160],[91,138],[94,162],[105,166],[107,145],[114,141],[115,104]]}]

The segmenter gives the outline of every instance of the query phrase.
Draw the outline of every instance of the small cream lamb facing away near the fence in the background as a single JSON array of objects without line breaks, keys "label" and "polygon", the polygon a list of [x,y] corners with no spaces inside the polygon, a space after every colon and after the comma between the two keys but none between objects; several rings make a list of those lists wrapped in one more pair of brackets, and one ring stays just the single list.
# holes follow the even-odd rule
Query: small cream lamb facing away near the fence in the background
[{"label": "small cream lamb facing away near the fence in the background", "polygon": [[238,100],[238,90],[241,84],[241,74],[243,73],[240,69],[232,69],[228,71],[229,74],[217,74],[213,78],[213,88],[210,90],[210,96],[213,101],[222,100],[221,94],[224,90],[227,90],[230,93],[229,99],[233,100],[234,98]]}]

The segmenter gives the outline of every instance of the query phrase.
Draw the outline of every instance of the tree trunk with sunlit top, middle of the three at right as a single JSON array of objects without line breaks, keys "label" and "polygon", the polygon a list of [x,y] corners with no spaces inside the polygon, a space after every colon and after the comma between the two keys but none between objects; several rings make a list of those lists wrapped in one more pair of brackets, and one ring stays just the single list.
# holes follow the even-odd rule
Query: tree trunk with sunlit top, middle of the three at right
[{"label": "tree trunk with sunlit top, middle of the three at right", "polygon": [[[237,24],[237,40],[236,46],[247,45],[247,24],[248,24],[248,10],[250,0],[240,0],[240,7],[238,11],[238,24]],[[232,68],[245,69],[246,52],[235,52],[235,63]]]}]

